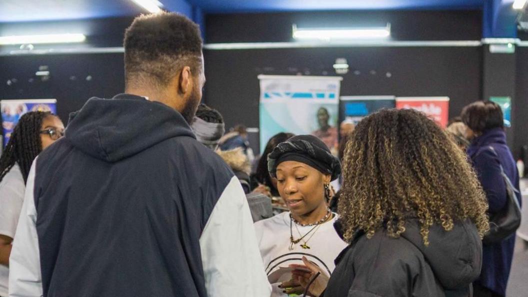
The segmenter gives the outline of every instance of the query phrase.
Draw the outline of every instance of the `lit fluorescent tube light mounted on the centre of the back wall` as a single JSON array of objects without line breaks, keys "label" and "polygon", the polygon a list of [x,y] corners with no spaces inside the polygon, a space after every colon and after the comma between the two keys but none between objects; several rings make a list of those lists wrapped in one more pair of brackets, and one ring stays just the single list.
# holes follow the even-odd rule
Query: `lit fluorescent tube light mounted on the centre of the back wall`
[{"label": "lit fluorescent tube light mounted on the centre of the back wall", "polygon": [[388,38],[391,26],[363,28],[310,28],[303,29],[293,25],[294,39],[346,40]]}]

